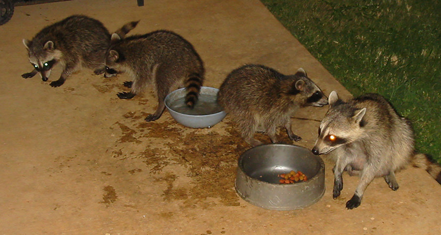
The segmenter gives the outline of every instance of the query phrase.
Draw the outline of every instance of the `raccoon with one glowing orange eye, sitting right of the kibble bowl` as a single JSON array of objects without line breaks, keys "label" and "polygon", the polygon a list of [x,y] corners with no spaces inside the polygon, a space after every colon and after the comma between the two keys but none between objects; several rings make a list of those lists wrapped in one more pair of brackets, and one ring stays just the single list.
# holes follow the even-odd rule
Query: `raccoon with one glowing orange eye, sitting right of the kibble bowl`
[{"label": "raccoon with one glowing orange eye, sitting right of the kibble bowl", "polygon": [[347,209],[360,206],[365,189],[375,177],[384,177],[392,190],[398,189],[395,172],[408,163],[424,167],[441,183],[441,167],[430,156],[416,154],[411,123],[399,116],[384,97],[366,94],[348,102],[332,91],[329,110],[320,123],[312,152],[330,154],[334,167],[333,198],[343,189],[342,174],[359,175],[360,183]]}]

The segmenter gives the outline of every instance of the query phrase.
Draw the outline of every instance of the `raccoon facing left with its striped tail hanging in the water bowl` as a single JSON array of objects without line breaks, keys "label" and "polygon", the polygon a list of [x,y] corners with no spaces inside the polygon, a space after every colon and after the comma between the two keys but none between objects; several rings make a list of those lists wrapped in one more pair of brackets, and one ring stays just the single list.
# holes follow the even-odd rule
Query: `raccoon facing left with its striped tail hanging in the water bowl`
[{"label": "raccoon facing left with its striped tail hanging in the water bowl", "polygon": [[204,65],[193,45],[182,36],[168,30],[153,31],[121,39],[113,34],[111,47],[105,56],[109,78],[127,73],[133,80],[123,85],[130,92],[120,92],[120,99],[131,99],[152,85],[158,98],[158,107],[145,119],[157,120],[165,109],[165,97],[177,88],[187,89],[185,103],[193,107],[204,80]]}]

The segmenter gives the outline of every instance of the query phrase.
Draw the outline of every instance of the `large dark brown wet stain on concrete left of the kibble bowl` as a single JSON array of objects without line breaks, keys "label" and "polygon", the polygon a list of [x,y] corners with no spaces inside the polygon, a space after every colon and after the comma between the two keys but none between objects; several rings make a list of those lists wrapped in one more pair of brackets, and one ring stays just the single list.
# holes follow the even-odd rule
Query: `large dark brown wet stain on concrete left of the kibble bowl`
[{"label": "large dark brown wet stain on concrete left of the kibble bowl", "polygon": [[[164,201],[183,200],[184,208],[195,205],[208,208],[213,206],[213,201],[207,199],[218,198],[223,205],[240,206],[234,189],[237,159],[250,146],[231,123],[227,123],[223,131],[226,134],[220,134],[207,129],[183,129],[172,119],[145,122],[142,112],[129,112],[123,117],[126,119],[116,123],[122,134],[115,151],[122,150],[119,143],[143,144],[143,151],[127,153],[129,157],[124,157],[122,152],[118,157],[142,159],[149,173],[158,175],[155,182],[167,185],[162,194]],[[179,176],[164,172],[165,167],[172,165],[184,167],[185,177],[189,177],[191,183],[176,186]]]}]

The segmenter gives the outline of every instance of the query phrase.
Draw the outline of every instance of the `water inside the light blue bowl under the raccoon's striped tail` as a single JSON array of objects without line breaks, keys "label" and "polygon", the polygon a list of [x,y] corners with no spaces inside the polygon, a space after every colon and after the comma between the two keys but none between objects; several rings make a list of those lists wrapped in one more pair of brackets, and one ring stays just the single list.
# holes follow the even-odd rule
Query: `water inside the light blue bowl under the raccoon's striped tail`
[{"label": "water inside the light blue bowl under the raccoon's striped tail", "polygon": [[208,115],[222,111],[222,107],[216,102],[217,96],[211,94],[199,94],[195,106],[190,108],[185,104],[185,97],[170,102],[169,107],[179,113],[188,115]]}]

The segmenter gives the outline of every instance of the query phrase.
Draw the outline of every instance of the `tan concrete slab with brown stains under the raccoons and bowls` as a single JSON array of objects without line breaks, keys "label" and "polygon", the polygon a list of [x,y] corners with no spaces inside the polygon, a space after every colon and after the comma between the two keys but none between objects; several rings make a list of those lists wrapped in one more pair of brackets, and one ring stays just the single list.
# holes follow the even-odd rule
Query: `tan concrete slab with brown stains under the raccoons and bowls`
[{"label": "tan concrete slab with brown stains under the raccoons and bowls", "polygon": [[[141,20],[131,32],[173,30],[188,39],[206,68],[206,86],[219,87],[233,69],[259,63],[284,74],[302,67],[326,94],[350,94],[258,0],[72,0],[16,7],[0,26],[0,234],[439,234],[441,187],[408,167],[392,191],[383,179],[362,205],[345,209],[357,177],[344,175],[332,199],[293,211],[252,206],[234,191],[236,160],[249,146],[230,117],[210,129],[176,124],[166,111],[152,123],[150,92],[120,100],[126,75],[94,76],[84,69],[58,88],[32,70],[22,39],[72,14],[86,14],[110,31]],[[150,91],[150,90],[149,90]],[[293,117],[296,144],[312,148],[327,107]],[[281,139],[290,142],[284,131]],[[266,136],[259,136],[269,142]],[[291,142],[290,142],[291,143]]]}]

